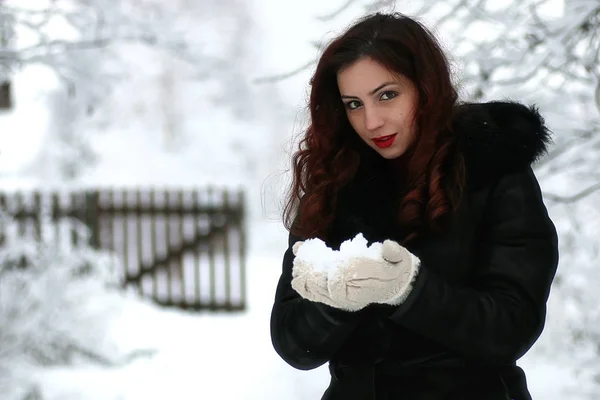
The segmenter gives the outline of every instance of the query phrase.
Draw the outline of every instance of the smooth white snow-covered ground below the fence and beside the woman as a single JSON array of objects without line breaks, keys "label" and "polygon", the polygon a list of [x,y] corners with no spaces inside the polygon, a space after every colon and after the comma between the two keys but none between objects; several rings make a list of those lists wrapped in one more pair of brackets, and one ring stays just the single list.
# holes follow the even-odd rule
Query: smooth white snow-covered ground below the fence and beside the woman
[{"label": "smooth white snow-covered ground below the fence and beside the woman", "polygon": [[[284,245],[284,243],[281,243]],[[280,257],[249,259],[249,310],[239,315],[187,314],[130,301],[112,330],[126,351],[158,350],[125,367],[43,370],[45,400],[319,399],[327,368],[297,371],[274,352],[269,313]],[[577,400],[578,378],[549,357],[522,360],[534,399]]]}]

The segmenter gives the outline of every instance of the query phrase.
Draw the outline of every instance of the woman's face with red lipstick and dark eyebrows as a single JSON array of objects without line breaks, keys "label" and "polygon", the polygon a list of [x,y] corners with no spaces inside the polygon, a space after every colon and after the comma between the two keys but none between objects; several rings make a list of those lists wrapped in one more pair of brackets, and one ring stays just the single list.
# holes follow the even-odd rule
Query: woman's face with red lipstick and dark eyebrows
[{"label": "woman's face with red lipstick and dark eyebrows", "polygon": [[412,82],[363,58],[341,70],[337,83],[348,120],[361,139],[388,160],[403,155],[416,139],[413,116],[419,94]]}]

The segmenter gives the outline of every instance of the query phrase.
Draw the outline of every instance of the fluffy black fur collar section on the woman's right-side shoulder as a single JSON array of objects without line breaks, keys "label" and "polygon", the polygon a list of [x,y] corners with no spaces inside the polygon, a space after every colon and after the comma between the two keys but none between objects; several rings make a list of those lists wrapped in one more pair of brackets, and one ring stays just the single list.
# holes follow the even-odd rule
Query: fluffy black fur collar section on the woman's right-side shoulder
[{"label": "fluffy black fur collar section on the woman's right-side shoulder", "polygon": [[552,142],[538,109],[511,101],[462,104],[453,128],[468,174],[478,182],[531,165]]}]

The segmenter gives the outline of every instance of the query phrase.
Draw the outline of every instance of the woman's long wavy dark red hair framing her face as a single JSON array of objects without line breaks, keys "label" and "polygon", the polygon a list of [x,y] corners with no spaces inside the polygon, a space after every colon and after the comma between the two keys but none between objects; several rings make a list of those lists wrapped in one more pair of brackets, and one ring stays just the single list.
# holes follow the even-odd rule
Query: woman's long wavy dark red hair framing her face
[{"label": "woman's long wavy dark red hair framing her face", "polygon": [[399,13],[376,13],[327,46],[311,79],[310,125],[292,156],[293,181],[283,210],[286,228],[296,235],[327,239],[339,191],[364,159],[368,146],[348,121],[337,74],[366,57],[405,76],[418,90],[417,137],[409,159],[397,171],[406,184],[397,212],[398,223],[409,232],[405,242],[427,228],[439,228],[442,217],[459,202],[464,160],[453,151],[451,121],[458,95],[448,60],[418,21]]}]

